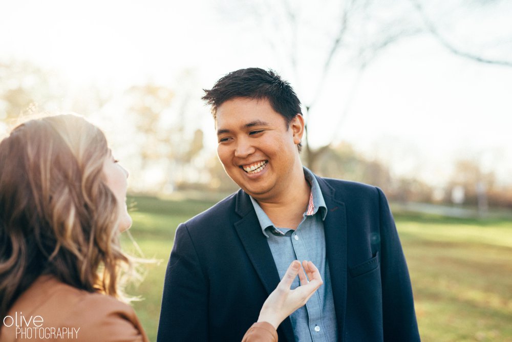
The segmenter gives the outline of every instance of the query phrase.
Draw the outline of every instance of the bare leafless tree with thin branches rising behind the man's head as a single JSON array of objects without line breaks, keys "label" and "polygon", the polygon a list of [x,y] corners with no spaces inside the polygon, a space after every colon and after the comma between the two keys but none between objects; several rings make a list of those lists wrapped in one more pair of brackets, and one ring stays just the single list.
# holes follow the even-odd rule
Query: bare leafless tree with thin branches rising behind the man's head
[{"label": "bare leafless tree with thin branches rising behind the man's head", "polygon": [[[231,6],[232,2],[224,1],[219,10],[224,18],[234,20],[237,25],[242,24],[247,31],[256,29],[253,31],[257,32],[255,36],[271,47],[278,64],[281,63],[284,70],[289,69],[292,83],[303,99],[305,108],[305,164],[315,170],[319,157],[328,151],[343,126],[361,76],[381,52],[397,41],[429,33],[458,56],[511,66],[510,61],[504,58],[487,57],[453,44],[441,33],[439,22],[429,17],[420,1],[239,0],[236,7]],[[488,6],[488,3],[503,1],[475,0],[471,5],[450,3],[455,9],[473,6],[478,10]],[[446,18],[461,20],[455,13],[452,10]],[[258,41],[255,40],[254,44],[258,44]],[[339,106],[335,109],[337,119],[329,123],[332,136],[324,139],[327,143],[318,146],[312,142],[309,132],[312,125],[318,123],[318,103],[325,99],[325,94],[330,90],[326,89],[327,84],[331,88],[345,89],[345,92],[338,94]]]}]

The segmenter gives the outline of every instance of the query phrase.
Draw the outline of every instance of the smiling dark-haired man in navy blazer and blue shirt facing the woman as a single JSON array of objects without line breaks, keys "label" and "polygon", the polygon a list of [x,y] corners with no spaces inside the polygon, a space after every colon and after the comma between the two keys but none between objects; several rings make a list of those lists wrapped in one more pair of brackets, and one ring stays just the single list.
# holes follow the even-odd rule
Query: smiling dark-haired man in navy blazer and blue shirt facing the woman
[{"label": "smiling dark-haired man in navy blazer and blue shirt facing the woman", "polygon": [[241,340],[296,259],[311,260],[324,285],[281,324],[280,341],[419,340],[385,196],[303,167],[304,119],[290,84],[249,68],[205,93],[219,159],[241,189],[178,227],[158,340]]}]

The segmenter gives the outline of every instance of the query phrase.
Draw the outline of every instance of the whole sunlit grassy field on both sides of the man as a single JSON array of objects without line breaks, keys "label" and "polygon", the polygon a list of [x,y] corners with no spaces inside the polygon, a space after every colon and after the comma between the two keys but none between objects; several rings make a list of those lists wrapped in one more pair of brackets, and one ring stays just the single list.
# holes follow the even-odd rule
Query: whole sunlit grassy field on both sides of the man
[{"label": "whole sunlit grassy field on both sides of the man", "polygon": [[[208,208],[206,200],[132,198],[131,233],[146,258],[144,281],[129,293],[142,325],[156,340],[163,277],[180,222]],[[409,264],[423,341],[512,341],[512,220],[453,219],[395,213]],[[133,250],[123,238],[123,247]]]}]

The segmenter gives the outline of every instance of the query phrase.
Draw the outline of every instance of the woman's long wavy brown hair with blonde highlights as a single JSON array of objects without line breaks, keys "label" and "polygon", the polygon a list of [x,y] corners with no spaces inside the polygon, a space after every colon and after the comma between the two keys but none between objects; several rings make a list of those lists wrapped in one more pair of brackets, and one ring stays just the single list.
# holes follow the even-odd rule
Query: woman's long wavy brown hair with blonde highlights
[{"label": "woman's long wavy brown hair with blonde highlights", "polygon": [[0,316],[41,274],[122,297],[119,205],[103,133],[75,115],[33,119],[0,142]]}]

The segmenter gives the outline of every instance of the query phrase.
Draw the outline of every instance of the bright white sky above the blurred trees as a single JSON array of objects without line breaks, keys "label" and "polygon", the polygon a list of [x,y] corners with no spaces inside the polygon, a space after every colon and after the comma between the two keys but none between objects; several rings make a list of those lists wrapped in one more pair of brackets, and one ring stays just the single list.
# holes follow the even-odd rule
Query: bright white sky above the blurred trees
[{"label": "bright white sky above the blurred trees", "polygon": [[[0,61],[26,59],[56,70],[72,86],[94,83],[118,92],[147,80],[176,86],[174,80],[192,70],[199,96],[201,88],[210,88],[225,73],[258,66],[281,73],[296,86],[303,102],[309,101],[308,86],[314,86],[319,69],[297,78],[286,58],[237,17],[246,15],[236,8],[243,3],[3,1]],[[485,39],[497,32],[510,33],[504,18],[512,6],[504,6],[508,7],[462,13],[469,19],[452,28],[453,39],[466,30],[465,44],[484,47],[476,53],[503,48],[486,44]],[[436,13],[435,8],[428,13]],[[264,30],[267,22],[261,20]],[[471,32],[474,23],[478,30]],[[308,49],[297,57],[314,59],[308,58]],[[391,161],[398,174],[414,173],[433,182],[449,175],[453,159],[474,158],[511,182],[512,68],[457,57],[431,36],[419,35],[383,50],[358,82],[354,75],[341,68],[330,73],[312,114],[314,144],[331,137],[346,140],[368,156]],[[337,83],[340,79],[348,81]],[[348,111],[340,120],[350,94]],[[203,109],[205,144],[214,149],[215,132],[208,109]]]}]

